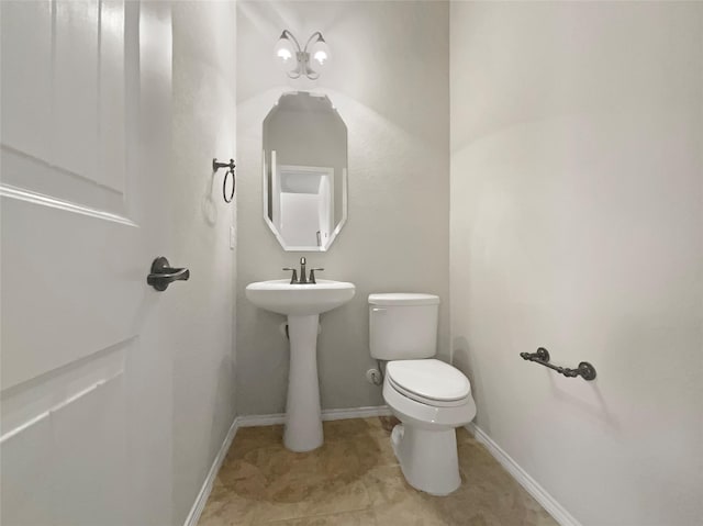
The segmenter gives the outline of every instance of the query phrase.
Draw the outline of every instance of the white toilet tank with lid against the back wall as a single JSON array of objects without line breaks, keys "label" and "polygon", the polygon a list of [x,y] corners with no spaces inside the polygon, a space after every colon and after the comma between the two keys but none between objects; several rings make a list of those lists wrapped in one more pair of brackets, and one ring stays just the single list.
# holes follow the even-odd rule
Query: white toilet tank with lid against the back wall
[{"label": "white toilet tank with lid against the back wall", "polygon": [[370,294],[369,348],[377,360],[429,358],[437,351],[439,296]]}]

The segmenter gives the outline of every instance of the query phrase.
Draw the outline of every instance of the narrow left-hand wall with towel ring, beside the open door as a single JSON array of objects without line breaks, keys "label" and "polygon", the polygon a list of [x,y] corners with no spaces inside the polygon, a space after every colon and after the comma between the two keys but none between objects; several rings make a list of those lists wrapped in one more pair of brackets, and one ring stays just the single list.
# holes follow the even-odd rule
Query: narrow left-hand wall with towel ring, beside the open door
[{"label": "narrow left-hand wall with towel ring, beside the open door", "polygon": [[174,265],[190,281],[174,309],[174,523],[182,524],[235,416],[233,337],[235,204],[222,198],[212,158],[236,156],[236,9],[174,2]]}]

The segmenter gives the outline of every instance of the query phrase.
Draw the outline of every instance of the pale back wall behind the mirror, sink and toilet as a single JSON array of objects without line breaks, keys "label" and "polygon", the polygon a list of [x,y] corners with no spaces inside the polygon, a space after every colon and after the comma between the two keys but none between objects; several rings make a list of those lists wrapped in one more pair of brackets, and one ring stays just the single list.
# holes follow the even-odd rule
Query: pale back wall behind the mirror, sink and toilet
[{"label": "pale back wall behind the mirror, sink and toilet", "polygon": [[[242,414],[284,409],[288,343],[282,316],[255,309],[252,281],[281,267],[324,267],[357,284],[356,298],[323,314],[319,365],[323,407],[382,403],[365,380],[367,296],[439,294],[439,346],[448,358],[448,4],[445,2],[237,2],[237,403]],[[322,31],[333,61],[317,82],[289,80],[272,48],[288,29]],[[286,253],[261,211],[261,123],[284,91],[330,96],[348,130],[349,215],[330,251]]]}]

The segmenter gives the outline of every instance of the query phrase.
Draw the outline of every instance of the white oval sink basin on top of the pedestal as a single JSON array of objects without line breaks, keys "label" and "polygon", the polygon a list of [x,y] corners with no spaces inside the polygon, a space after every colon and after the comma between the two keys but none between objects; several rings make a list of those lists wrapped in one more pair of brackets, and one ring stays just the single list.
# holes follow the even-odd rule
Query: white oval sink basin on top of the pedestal
[{"label": "white oval sink basin on top of the pedestal", "polygon": [[302,316],[322,314],[343,305],[356,293],[354,283],[319,279],[316,284],[291,284],[287,279],[249,283],[246,296],[259,309]]}]

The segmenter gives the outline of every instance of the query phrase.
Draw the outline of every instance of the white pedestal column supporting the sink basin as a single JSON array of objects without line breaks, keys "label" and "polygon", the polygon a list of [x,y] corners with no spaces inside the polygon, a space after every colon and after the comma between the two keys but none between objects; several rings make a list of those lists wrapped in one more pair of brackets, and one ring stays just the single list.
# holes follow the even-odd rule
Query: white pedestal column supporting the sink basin
[{"label": "white pedestal column supporting the sink basin", "polygon": [[290,369],[283,445],[291,451],[310,451],[323,441],[317,380],[319,318],[319,314],[288,316]]}]

